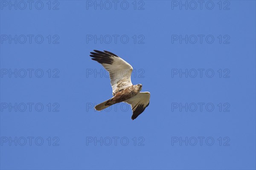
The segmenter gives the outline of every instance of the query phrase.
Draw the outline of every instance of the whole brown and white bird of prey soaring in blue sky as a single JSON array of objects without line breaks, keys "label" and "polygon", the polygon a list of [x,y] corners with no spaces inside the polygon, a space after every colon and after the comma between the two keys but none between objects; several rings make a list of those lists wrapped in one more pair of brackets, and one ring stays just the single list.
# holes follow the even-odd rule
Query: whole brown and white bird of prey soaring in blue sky
[{"label": "whole brown and white bird of prey soaring in blue sky", "polygon": [[131,72],[133,68],[125,60],[109,51],[93,50],[90,57],[99,62],[110,75],[113,97],[95,106],[101,111],[119,102],[126,102],[131,105],[133,114],[131,119],[136,119],[149,105],[150,93],[140,92],[142,85],[131,83]]}]

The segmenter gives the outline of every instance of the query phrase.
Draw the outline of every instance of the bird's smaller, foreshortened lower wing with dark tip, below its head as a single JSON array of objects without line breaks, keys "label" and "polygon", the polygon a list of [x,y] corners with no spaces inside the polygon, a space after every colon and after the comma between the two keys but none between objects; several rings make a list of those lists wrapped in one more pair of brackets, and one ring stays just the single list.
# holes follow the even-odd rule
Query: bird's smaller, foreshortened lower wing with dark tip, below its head
[{"label": "bird's smaller, foreshortened lower wing with dark tip, below its head", "polygon": [[131,105],[133,111],[131,119],[136,119],[149,105],[150,93],[149,92],[140,92],[137,95],[133,96],[131,99],[125,101]]}]

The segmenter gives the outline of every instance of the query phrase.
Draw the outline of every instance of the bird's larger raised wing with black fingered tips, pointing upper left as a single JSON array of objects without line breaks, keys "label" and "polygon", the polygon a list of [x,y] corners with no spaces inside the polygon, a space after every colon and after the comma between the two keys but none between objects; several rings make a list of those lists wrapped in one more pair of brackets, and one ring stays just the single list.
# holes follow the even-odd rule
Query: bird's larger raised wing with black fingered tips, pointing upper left
[{"label": "bird's larger raised wing with black fingered tips, pointing upper left", "polygon": [[131,72],[133,68],[128,62],[109,51],[93,51],[90,53],[92,54],[90,57],[93,57],[93,60],[102,64],[109,72],[113,96],[116,92],[132,85]]}]

